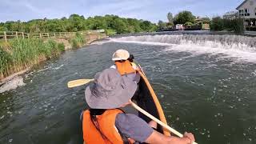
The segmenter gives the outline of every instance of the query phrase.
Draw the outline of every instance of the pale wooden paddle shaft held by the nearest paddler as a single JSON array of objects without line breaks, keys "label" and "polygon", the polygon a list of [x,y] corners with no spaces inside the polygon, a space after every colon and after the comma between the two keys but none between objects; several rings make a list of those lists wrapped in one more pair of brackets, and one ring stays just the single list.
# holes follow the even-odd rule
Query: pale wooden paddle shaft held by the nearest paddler
[{"label": "pale wooden paddle shaft held by the nearest paddler", "polygon": [[[166,123],[163,123],[162,121],[160,121],[158,118],[155,118],[153,115],[149,114],[148,112],[146,112],[146,110],[143,110],[142,108],[140,108],[139,106],[137,106],[134,102],[131,102],[131,105],[134,106],[134,108],[136,110],[138,110],[139,112],[141,112],[142,114],[145,114],[147,117],[149,117],[150,119],[154,120],[154,122],[157,122],[159,125],[163,126],[164,128],[166,128],[167,130],[170,130],[170,132],[176,134],[178,137],[183,138],[183,134],[179,133],[177,130],[174,130],[173,128],[171,128],[170,126],[166,125]],[[197,144],[196,142],[193,142],[193,144]]]}]

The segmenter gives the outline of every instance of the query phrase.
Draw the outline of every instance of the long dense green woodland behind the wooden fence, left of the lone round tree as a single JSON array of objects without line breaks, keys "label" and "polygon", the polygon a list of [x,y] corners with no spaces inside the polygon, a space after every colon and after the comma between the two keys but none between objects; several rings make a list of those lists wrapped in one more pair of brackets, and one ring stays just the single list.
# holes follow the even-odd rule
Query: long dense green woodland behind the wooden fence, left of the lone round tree
[{"label": "long dense green woodland behind the wooden fence, left of the lone round tree", "polygon": [[84,18],[71,14],[69,18],[34,19],[29,22],[1,22],[0,31],[21,31],[26,33],[76,32],[82,30],[106,30],[107,33],[139,33],[157,30],[157,25],[136,18],[120,18],[116,15]]}]

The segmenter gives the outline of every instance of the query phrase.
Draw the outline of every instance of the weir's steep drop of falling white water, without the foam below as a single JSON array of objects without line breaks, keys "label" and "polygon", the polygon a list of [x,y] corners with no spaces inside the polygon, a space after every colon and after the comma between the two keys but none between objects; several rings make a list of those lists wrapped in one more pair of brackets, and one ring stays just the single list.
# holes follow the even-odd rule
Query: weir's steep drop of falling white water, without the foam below
[{"label": "weir's steep drop of falling white water, without the foam below", "polygon": [[188,44],[256,51],[256,38],[230,34],[165,34],[114,38],[117,41],[158,42],[162,44]]}]

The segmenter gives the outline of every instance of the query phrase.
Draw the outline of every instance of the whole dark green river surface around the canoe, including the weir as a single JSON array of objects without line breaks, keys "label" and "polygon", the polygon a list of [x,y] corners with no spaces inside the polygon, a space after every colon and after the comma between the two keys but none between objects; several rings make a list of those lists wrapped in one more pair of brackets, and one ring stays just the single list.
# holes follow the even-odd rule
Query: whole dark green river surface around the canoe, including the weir
[{"label": "whole dark green river surface around the canoe, including the weir", "polygon": [[0,143],[82,143],[85,86],[129,50],[149,78],[174,129],[198,143],[256,143],[256,40],[232,35],[144,34],[110,38],[43,63],[25,86],[0,94]]}]

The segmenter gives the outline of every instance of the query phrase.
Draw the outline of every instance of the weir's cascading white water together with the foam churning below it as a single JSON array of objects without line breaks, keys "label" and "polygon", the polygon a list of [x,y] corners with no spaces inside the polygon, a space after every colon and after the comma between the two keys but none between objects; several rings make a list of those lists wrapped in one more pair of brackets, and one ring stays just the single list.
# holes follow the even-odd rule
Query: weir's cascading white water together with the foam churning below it
[{"label": "weir's cascading white water together with the foam churning below it", "polygon": [[[112,38],[112,42],[135,42],[166,46],[166,51],[187,51],[193,54],[225,54],[226,57],[256,62],[256,38],[239,35],[171,34]],[[223,55],[222,55],[223,57]]]}]

